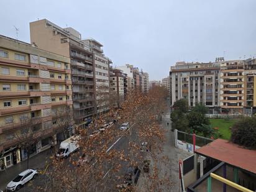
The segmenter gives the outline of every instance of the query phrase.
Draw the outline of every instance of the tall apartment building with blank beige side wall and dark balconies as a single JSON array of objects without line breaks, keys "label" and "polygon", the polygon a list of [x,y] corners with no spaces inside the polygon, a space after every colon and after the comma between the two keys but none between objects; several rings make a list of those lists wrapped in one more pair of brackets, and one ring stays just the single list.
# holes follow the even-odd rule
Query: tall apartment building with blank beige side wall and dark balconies
[{"label": "tall apartment building with blank beige side wall and dark balconies", "polygon": [[47,19],[30,22],[30,41],[39,48],[71,59],[74,119],[79,126],[86,126],[97,111],[94,61],[99,57],[94,58],[90,44],[81,40],[80,32],[71,27],[59,27]]}]

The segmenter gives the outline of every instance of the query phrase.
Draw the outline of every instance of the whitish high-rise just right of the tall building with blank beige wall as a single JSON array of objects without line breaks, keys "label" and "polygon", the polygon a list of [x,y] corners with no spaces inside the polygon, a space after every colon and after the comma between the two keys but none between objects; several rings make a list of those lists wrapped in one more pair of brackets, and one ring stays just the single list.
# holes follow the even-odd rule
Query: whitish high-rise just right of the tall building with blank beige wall
[{"label": "whitish high-rise just right of the tall building with blank beige wall", "polygon": [[96,79],[96,103],[98,112],[108,109],[109,99],[109,64],[112,61],[103,54],[103,45],[93,38],[82,40],[94,53],[95,79]]}]

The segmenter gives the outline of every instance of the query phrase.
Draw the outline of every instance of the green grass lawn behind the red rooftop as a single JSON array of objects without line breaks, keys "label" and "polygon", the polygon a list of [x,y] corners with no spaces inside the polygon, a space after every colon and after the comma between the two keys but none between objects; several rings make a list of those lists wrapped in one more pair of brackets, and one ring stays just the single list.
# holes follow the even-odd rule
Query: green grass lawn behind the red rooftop
[{"label": "green grass lawn behind the red rooftop", "polygon": [[229,140],[231,138],[231,127],[237,119],[210,119],[211,127],[218,127],[219,133],[222,135],[221,139]]}]

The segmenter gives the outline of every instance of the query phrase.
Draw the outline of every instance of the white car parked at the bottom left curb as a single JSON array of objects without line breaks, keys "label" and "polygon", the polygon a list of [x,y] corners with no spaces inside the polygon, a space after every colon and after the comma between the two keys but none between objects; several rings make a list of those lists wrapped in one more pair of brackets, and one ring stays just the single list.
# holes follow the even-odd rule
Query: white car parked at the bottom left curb
[{"label": "white car parked at the bottom left curb", "polygon": [[35,175],[37,175],[37,170],[28,169],[21,173],[19,173],[14,180],[12,180],[8,185],[6,186],[6,189],[9,191],[16,191],[22,188],[25,183],[32,180],[32,178],[35,178]]}]

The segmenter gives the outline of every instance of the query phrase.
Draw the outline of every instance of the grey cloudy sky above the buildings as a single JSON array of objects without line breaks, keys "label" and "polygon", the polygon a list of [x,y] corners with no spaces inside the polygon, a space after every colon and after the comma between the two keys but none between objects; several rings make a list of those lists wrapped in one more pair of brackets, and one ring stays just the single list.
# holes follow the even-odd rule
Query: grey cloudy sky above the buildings
[{"label": "grey cloudy sky above the buildings", "polygon": [[0,34],[30,42],[29,22],[48,19],[104,45],[113,65],[130,63],[150,80],[176,61],[256,57],[255,0],[94,0],[0,2]]}]

